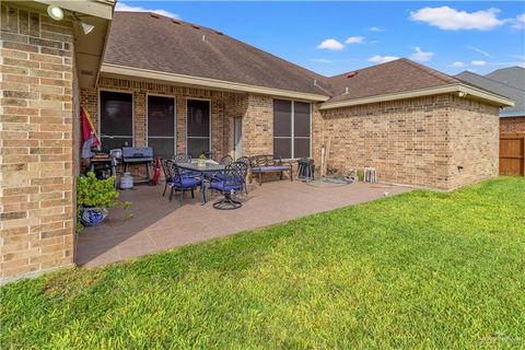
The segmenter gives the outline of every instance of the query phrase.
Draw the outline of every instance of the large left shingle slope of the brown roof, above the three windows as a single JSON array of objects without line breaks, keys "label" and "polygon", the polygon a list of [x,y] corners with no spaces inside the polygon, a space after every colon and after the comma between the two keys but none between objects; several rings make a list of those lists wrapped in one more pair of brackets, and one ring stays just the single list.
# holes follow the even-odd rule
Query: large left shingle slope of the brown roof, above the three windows
[{"label": "large left shingle slope of the brown roof, above the three windows", "polygon": [[220,32],[144,12],[115,12],[104,62],[329,95],[320,74]]}]

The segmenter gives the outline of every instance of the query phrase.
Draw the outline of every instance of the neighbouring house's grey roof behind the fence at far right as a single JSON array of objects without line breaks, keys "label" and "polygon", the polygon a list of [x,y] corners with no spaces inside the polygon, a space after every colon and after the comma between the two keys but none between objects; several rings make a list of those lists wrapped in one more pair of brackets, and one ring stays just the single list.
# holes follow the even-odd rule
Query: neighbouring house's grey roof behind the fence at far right
[{"label": "neighbouring house's grey roof behind the fence at far right", "polygon": [[[518,68],[518,67],[515,67]],[[495,72],[500,72],[506,70],[506,69],[499,69]],[[506,70],[512,71],[512,70]],[[525,71],[525,70],[524,70]],[[512,101],[514,101],[514,106],[513,107],[506,107],[503,108],[500,113],[500,116],[502,117],[521,117],[525,116],[525,89],[517,89],[511,85],[508,85],[503,82],[495,81],[493,79],[489,79],[487,77],[491,75],[479,75],[469,71],[464,71],[459,74],[456,75],[457,79],[460,79],[471,85],[476,85],[479,88],[482,88],[485,90],[491,91],[498,95],[505,96]],[[491,77],[494,77],[492,74]],[[525,85],[525,83],[524,83]]]}]

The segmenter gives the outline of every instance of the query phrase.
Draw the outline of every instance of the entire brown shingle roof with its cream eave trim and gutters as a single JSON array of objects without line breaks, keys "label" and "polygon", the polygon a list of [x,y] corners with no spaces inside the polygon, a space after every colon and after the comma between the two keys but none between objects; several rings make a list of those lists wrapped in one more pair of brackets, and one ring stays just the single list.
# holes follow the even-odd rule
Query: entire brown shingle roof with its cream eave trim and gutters
[{"label": "entire brown shingle roof with its cream eave trim and gutters", "polygon": [[145,12],[115,13],[101,70],[107,75],[326,102],[322,108],[456,92],[498,105],[510,103],[408,59],[327,78],[214,30]]}]

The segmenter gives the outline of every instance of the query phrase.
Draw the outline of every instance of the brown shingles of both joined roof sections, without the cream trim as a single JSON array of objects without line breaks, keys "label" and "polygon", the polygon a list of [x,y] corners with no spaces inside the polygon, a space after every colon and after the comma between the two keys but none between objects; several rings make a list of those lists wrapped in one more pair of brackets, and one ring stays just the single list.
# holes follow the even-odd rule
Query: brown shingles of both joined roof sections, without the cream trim
[{"label": "brown shingles of both joined roof sections, without the cream trim", "polygon": [[325,95],[328,102],[460,82],[408,59],[327,78],[214,30],[145,12],[115,13],[104,63]]}]

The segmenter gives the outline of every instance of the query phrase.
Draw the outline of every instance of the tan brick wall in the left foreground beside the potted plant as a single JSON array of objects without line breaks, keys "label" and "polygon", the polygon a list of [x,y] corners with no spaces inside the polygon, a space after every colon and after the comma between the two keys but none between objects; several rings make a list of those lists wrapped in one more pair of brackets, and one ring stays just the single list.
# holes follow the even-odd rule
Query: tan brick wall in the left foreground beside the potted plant
[{"label": "tan brick wall in the left foreground beside the potted plant", "polygon": [[0,276],[73,262],[73,31],[1,7]]}]

